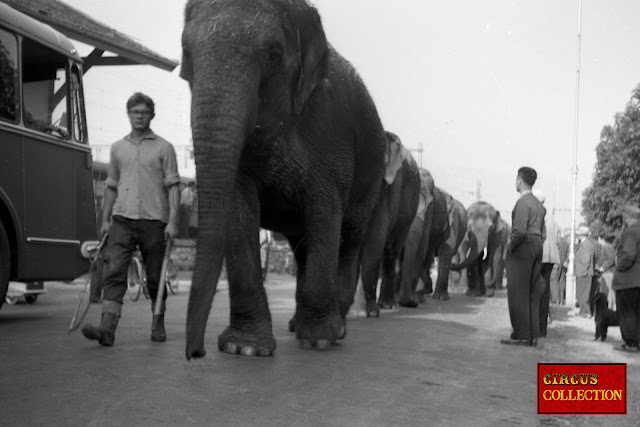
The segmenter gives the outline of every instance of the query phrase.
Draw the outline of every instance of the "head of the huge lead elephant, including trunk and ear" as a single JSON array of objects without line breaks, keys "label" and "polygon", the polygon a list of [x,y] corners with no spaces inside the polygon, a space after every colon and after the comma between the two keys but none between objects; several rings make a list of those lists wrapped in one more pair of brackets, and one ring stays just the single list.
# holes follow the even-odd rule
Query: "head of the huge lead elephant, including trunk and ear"
[{"label": "head of the huge lead elephant, including trunk and ear", "polygon": [[[303,0],[189,0],[181,76],[191,88],[198,241],[187,312],[187,357],[203,356],[224,257],[229,197],[246,147],[270,153],[305,114],[327,74],[329,46]],[[244,200],[241,200],[244,201]],[[213,283],[211,283],[213,282]]]}]

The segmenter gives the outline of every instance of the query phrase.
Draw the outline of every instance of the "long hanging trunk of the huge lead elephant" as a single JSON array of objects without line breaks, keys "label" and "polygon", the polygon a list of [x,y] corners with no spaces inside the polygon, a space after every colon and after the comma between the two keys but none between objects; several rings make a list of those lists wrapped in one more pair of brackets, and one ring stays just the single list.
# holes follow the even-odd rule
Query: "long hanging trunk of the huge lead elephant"
[{"label": "long hanging trunk of the huge lead elephant", "polygon": [[206,354],[204,334],[227,240],[229,212],[225,202],[240,199],[240,195],[234,194],[240,156],[250,130],[255,127],[252,106],[257,105],[253,102],[257,88],[238,88],[238,81],[243,80],[236,79],[234,83],[233,73],[227,69],[225,73],[196,79],[192,85],[198,239],[187,308],[187,359]]}]

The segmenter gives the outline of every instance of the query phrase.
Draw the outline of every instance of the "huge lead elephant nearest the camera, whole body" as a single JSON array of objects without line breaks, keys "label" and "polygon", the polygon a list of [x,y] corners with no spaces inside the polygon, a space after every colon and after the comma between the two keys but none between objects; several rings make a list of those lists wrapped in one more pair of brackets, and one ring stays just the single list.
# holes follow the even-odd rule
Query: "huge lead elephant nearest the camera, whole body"
[{"label": "huge lead elephant nearest the camera, whole body", "polygon": [[181,77],[191,89],[198,198],[187,359],[204,336],[223,260],[230,321],[219,350],[272,356],[258,232],[282,233],[297,264],[302,348],[346,336],[358,258],[383,182],[386,135],[353,66],[304,0],[189,0]]}]

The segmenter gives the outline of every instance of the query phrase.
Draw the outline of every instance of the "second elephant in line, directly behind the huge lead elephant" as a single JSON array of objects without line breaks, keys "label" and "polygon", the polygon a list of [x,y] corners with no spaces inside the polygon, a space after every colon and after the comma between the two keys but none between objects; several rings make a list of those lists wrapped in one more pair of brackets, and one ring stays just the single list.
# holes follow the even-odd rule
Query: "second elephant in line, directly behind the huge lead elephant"
[{"label": "second elephant in line, directly behind the huge lead elephant", "polygon": [[402,265],[400,254],[416,215],[420,194],[418,164],[397,135],[386,134],[388,149],[382,192],[369,220],[360,263],[367,317],[380,316],[376,291],[381,269],[381,289],[396,288],[396,265]]}]

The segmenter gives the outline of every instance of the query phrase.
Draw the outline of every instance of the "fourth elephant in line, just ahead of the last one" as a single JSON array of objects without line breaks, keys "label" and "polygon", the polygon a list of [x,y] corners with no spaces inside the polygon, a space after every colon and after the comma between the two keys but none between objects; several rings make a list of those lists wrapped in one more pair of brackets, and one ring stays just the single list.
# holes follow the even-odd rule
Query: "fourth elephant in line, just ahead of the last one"
[{"label": "fourth elephant in line, just ahead of the last one", "polygon": [[433,299],[449,299],[449,266],[467,231],[467,210],[461,202],[436,187],[433,203],[434,220],[429,235],[426,262],[420,275],[424,283],[424,288],[418,292],[420,302],[425,302],[425,295],[432,292],[433,284],[429,273],[435,257],[438,258],[438,278]]}]

